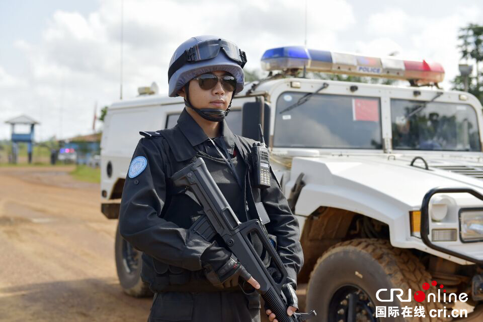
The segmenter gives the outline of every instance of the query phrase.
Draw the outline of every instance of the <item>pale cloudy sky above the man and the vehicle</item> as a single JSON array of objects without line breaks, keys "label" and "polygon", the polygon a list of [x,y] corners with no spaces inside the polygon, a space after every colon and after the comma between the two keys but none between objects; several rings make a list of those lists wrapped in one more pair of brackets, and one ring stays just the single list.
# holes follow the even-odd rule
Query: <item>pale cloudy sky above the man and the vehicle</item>
[{"label": "pale cloudy sky above the man and the vehicle", "polygon": [[303,45],[305,23],[309,48],[436,61],[449,89],[458,29],[482,21],[478,0],[0,0],[0,140],[21,114],[40,122],[35,141],[91,134],[96,106],[119,100],[121,26],[132,98],[152,82],[167,96],[171,56],[192,36],[234,41],[252,71],[266,49]]}]

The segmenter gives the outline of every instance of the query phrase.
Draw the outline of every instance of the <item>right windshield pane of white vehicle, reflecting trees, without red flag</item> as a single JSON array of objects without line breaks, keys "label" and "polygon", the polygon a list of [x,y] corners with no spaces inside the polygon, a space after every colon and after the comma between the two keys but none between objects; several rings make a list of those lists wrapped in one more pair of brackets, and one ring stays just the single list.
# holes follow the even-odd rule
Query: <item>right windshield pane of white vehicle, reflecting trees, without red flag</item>
[{"label": "right windshield pane of white vehicle, reflecting trees, without red flag", "polygon": [[[394,150],[481,151],[471,105],[391,99]],[[416,113],[417,109],[420,111]],[[408,115],[411,115],[408,117]]]}]

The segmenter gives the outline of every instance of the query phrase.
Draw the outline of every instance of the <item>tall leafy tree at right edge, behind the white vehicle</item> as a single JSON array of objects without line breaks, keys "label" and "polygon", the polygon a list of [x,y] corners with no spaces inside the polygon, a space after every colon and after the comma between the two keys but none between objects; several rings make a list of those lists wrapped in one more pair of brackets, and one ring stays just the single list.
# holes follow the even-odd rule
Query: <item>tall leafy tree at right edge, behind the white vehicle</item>
[{"label": "tall leafy tree at right edge, behind the white vehicle", "polygon": [[[479,69],[481,61],[483,61],[483,26],[469,24],[459,29],[458,45],[461,53],[461,59],[465,59],[466,63],[474,63],[474,75],[470,75],[468,79],[468,92],[476,96],[483,104],[483,82],[481,82],[482,73]],[[464,79],[462,76],[456,76],[451,81],[454,90],[464,90]]]}]

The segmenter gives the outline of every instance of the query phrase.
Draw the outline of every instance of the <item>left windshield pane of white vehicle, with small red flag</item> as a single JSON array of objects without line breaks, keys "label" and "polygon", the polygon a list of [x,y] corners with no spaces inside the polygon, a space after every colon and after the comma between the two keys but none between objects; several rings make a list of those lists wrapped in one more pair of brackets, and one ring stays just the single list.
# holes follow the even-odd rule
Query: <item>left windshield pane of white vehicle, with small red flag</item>
[{"label": "left windshield pane of white vehicle, with small red flag", "polygon": [[382,149],[378,97],[314,94],[280,113],[306,94],[284,92],[277,99],[274,147]]}]

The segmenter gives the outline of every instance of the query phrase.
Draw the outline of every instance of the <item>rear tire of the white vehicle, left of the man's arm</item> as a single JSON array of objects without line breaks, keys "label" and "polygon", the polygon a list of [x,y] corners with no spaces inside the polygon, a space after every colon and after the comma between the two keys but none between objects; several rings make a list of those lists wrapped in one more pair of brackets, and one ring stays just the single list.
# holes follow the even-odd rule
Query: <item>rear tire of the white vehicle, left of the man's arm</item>
[{"label": "rear tire of the white vehicle, left of the man's arm", "polygon": [[116,241],[114,245],[114,252],[116,257],[116,269],[117,269],[117,277],[119,279],[119,283],[121,284],[122,290],[124,293],[131,295],[133,297],[150,297],[152,296],[152,292],[149,290],[149,287],[146,283],[141,280],[141,252],[131,248],[131,250],[135,253],[137,257],[136,261],[136,269],[132,271],[128,271],[126,269],[126,259],[125,259],[125,251],[123,248],[126,246],[130,246],[129,243],[122,238],[121,234],[119,233],[119,223],[117,225],[116,230]]}]

